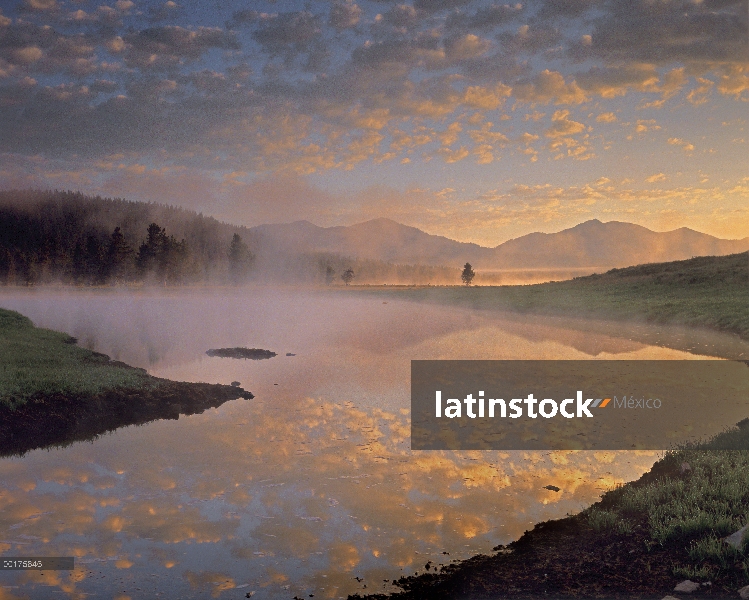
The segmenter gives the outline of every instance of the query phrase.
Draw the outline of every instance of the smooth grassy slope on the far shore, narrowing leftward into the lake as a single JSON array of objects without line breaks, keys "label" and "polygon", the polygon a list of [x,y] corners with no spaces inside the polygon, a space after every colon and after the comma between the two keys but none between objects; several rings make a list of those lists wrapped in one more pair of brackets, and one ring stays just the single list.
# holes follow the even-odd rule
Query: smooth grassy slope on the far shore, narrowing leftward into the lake
[{"label": "smooth grassy slope on the far shore, narrowing leftward into the lake", "polygon": [[524,286],[359,288],[467,308],[707,327],[749,340],[749,253]]}]

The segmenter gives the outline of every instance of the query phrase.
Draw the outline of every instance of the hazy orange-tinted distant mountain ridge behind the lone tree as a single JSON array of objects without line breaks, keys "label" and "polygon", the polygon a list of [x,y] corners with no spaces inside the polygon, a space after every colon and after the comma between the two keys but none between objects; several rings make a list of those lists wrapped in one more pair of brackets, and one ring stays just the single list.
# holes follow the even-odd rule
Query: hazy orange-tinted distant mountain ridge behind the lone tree
[{"label": "hazy orange-tinted distant mountain ridge behind the lone tree", "polygon": [[400,264],[480,269],[620,267],[749,249],[749,237],[723,240],[686,227],[668,232],[597,219],[558,233],[530,233],[495,248],[430,235],[390,219],[348,227],[318,227],[307,221],[250,229],[259,251],[271,254],[328,252]]}]

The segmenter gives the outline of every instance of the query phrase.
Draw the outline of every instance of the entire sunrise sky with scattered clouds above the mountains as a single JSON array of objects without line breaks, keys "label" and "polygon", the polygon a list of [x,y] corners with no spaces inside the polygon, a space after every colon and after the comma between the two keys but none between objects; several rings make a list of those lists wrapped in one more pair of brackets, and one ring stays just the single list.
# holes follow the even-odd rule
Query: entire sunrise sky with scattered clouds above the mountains
[{"label": "entire sunrise sky with scattered clouds above the mountains", "polygon": [[749,236],[747,0],[3,0],[0,188]]}]

